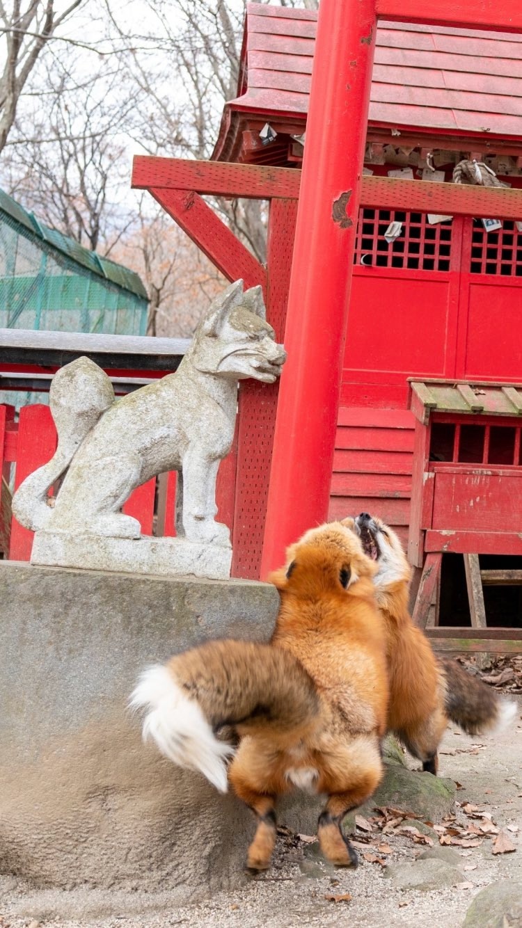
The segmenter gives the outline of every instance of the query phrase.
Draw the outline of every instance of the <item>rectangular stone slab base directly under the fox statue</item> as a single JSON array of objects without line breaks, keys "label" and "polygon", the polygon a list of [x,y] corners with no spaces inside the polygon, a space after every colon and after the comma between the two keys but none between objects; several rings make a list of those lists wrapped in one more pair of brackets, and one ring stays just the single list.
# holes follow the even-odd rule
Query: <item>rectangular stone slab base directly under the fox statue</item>
[{"label": "rectangular stone slab base directly under the fox statue", "polygon": [[197,544],[185,538],[107,538],[36,532],[31,562],[46,567],[76,567],[125,574],[195,576],[228,580],[232,548]]}]

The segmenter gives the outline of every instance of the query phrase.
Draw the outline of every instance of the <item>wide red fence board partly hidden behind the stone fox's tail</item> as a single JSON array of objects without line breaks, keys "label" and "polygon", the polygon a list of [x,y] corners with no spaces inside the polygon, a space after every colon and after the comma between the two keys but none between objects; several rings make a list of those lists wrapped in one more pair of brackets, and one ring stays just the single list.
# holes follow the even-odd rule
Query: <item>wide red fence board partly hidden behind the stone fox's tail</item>
[{"label": "wide red fence board partly hidden behind the stone fox's tail", "polygon": [[[20,483],[43,464],[50,460],[57,446],[55,423],[48,406],[38,403],[34,406],[22,406],[20,409],[17,463],[15,470],[15,490]],[[33,532],[23,528],[13,518],[11,527],[11,561],[29,561],[33,547]]]}]

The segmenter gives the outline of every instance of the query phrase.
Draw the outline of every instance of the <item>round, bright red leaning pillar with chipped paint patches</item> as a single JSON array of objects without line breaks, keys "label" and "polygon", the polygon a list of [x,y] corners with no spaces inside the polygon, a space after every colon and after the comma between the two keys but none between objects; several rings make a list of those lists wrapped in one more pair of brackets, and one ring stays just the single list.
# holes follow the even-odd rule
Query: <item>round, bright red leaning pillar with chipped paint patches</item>
[{"label": "round, bright red leaning pillar with chipped paint patches", "polygon": [[261,577],[327,518],[372,86],[375,0],[321,0]]}]

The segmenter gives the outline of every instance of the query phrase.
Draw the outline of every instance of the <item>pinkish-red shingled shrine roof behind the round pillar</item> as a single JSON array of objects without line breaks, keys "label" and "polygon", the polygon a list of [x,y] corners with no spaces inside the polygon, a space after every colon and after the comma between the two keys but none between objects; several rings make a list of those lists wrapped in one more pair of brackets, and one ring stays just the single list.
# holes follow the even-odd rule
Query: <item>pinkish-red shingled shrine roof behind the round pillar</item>
[{"label": "pinkish-red shingled shrine roof behind the round pillar", "polygon": [[[247,5],[238,96],[225,105],[215,159],[241,160],[248,114],[303,131],[316,29],[315,11]],[[380,21],[369,126],[522,137],[522,35]]]}]

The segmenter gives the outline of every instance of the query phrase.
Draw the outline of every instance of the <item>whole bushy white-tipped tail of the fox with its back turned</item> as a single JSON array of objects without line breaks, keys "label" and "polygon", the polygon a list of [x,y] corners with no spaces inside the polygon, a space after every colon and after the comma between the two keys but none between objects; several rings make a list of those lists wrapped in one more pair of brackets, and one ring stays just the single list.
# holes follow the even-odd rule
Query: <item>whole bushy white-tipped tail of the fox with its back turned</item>
[{"label": "whole bushy white-tipped tail of the fox with its back turned", "polygon": [[320,712],[312,678],[288,651],[253,641],[208,641],[146,670],[131,697],[145,709],[143,737],[179,767],[200,770],[227,792],[234,749],[215,731],[305,730]]}]

